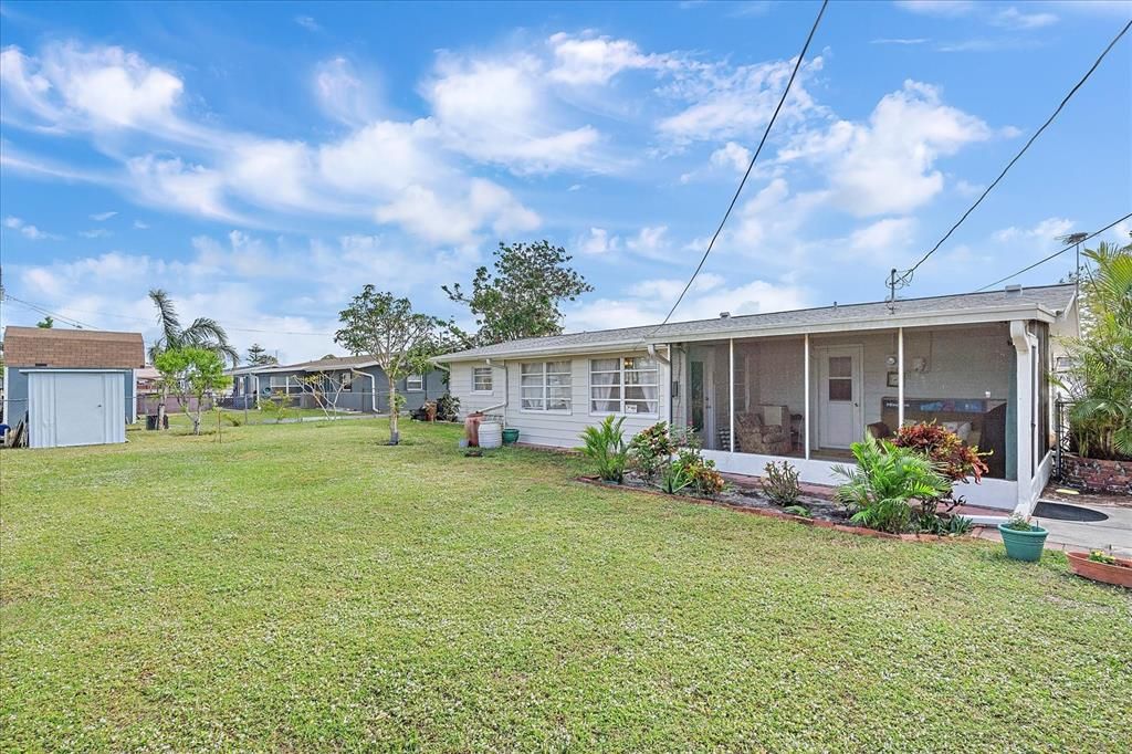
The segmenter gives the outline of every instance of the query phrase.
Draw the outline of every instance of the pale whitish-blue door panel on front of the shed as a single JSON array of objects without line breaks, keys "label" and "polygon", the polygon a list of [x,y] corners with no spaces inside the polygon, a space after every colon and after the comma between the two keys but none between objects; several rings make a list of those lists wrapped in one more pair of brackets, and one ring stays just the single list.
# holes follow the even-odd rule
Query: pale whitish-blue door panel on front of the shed
[{"label": "pale whitish-blue door panel on front of the shed", "polygon": [[29,375],[32,447],[126,442],[126,383],[121,372]]}]

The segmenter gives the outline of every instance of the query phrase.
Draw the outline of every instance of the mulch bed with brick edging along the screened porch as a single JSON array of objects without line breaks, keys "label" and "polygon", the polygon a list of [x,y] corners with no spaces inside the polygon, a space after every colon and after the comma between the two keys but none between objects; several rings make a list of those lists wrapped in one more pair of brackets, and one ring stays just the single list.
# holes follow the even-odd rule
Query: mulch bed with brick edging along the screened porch
[{"label": "mulch bed with brick edging along the screened porch", "polygon": [[644,495],[657,495],[660,497],[675,498],[684,500],[687,503],[695,503],[697,505],[714,505],[719,507],[730,508],[739,513],[749,513],[756,516],[765,516],[767,519],[781,519],[783,521],[792,521],[795,523],[800,523],[806,526],[816,526],[818,529],[832,529],[834,531],[844,532],[847,534],[857,534],[858,537],[873,537],[876,539],[892,539],[904,542],[947,542],[954,541],[957,539],[966,538],[977,538],[984,526],[975,526],[970,532],[961,537],[941,537],[938,534],[890,534],[884,531],[876,531],[874,529],[866,529],[864,526],[858,526],[856,524],[849,523],[849,516],[841,508],[840,505],[831,503],[827,499],[813,497],[808,495],[803,495],[798,498],[798,505],[804,505],[809,508],[809,513],[813,517],[798,516],[792,513],[786,513],[781,507],[774,505],[769,499],[766,499],[762,492],[756,491],[751,488],[738,489],[735,491],[726,491],[717,498],[700,497],[698,495],[669,495],[663,492],[646,482],[636,478],[626,478],[624,485],[615,485],[612,482],[602,481],[597,477],[577,477],[577,481],[593,485],[595,487],[601,487],[604,489],[617,489],[621,491],[632,492],[643,492]]}]

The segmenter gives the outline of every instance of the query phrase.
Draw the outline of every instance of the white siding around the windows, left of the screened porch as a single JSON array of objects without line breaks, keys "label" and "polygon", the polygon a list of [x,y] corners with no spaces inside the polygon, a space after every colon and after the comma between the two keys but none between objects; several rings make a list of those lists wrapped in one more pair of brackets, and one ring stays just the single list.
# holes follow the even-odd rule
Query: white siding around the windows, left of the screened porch
[{"label": "white siding around the windows, left of the screened porch", "polygon": [[[590,359],[610,358],[625,355],[644,355],[644,353],[599,353],[571,357],[571,410],[568,412],[554,411],[524,411],[520,400],[520,370],[524,362],[558,361],[561,357],[539,357],[531,359],[508,359],[506,361],[492,360],[495,365],[492,392],[472,392],[472,368],[484,366],[479,362],[456,362],[452,365],[451,387],[452,394],[460,399],[461,415],[470,411],[483,410],[491,405],[504,402],[504,369],[506,369],[507,406],[505,410],[496,410],[492,413],[500,413],[505,417],[507,427],[517,429],[518,440],[531,445],[543,445],[548,447],[571,448],[581,445],[582,430],[589,426],[601,423],[604,414],[590,413]],[[658,382],[658,413],[626,414],[625,437],[628,439],[636,432],[651,427],[658,421],[668,420],[670,371],[666,363],[659,362],[657,375]]]}]

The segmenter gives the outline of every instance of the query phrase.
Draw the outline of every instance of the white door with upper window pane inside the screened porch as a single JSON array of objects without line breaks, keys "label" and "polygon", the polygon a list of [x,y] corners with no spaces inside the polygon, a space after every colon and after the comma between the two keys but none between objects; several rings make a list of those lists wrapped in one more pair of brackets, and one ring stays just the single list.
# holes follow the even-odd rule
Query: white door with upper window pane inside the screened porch
[{"label": "white door with upper window pane inside the screened porch", "polygon": [[861,413],[861,349],[817,349],[818,445],[847,448],[865,431]]}]

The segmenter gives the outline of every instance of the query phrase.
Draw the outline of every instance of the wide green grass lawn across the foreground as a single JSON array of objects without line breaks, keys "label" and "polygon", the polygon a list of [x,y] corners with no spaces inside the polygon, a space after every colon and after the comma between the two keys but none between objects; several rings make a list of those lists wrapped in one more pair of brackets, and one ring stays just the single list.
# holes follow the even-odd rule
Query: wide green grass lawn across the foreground
[{"label": "wide green grass lawn across the foreground", "polygon": [[1132,598],[1061,555],[402,431],[0,453],[3,748],[1132,751]]}]

